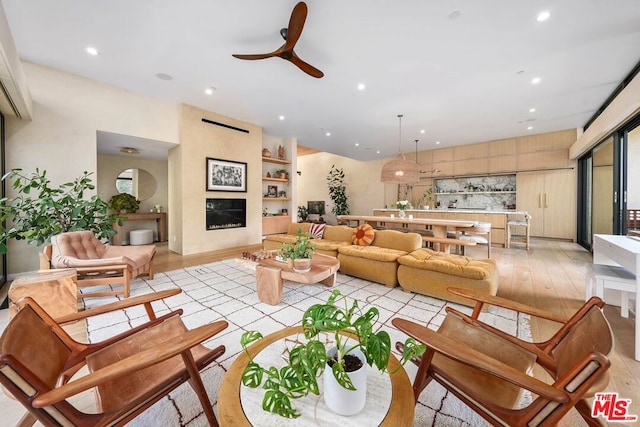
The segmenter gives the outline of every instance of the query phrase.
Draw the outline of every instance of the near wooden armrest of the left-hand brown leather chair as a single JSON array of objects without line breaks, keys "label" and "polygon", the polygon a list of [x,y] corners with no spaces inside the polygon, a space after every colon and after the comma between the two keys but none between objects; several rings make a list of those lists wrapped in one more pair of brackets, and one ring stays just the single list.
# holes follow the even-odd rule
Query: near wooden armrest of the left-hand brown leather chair
[{"label": "near wooden armrest of the left-hand brown leather chair", "polygon": [[189,351],[193,346],[211,338],[224,330],[227,326],[228,323],[225,320],[219,320],[190,330],[180,336],[168,340],[167,342],[158,344],[96,372],[84,375],[75,381],[68,382],[51,391],[43,393],[33,400],[33,406],[36,408],[42,408],[53,405],[112,379],[128,375],[132,372],[163,362],[185,351]]}]

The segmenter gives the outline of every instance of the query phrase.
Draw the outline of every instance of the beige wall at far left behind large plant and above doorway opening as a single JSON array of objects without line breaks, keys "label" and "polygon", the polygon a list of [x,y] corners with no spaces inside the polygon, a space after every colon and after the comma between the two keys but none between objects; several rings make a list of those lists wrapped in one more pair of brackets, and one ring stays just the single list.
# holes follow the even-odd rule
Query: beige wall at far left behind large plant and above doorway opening
[{"label": "beige wall at far left behind large plant and above doorway opening", "polygon": [[[54,186],[83,171],[95,173],[98,130],[178,143],[178,108],[173,103],[41,65],[23,66],[34,102],[33,120],[6,118],[8,169],[44,169]],[[8,196],[13,195],[8,189]],[[9,242],[9,274],[36,270],[37,252],[24,242]]]}]

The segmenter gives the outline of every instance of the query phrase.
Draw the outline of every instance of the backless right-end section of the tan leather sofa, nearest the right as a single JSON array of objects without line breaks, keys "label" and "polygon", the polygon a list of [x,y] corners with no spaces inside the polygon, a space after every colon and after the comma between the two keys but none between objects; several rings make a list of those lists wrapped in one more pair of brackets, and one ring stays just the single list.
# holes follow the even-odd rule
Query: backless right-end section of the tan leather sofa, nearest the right
[{"label": "backless right-end section of the tan leather sofa, nearest the right", "polygon": [[473,289],[495,295],[498,292],[498,267],[495,260],[474,259],[418,249],[398,258],[398,282],[407,292],[474,305],[474,301],[447,291],[448,287]]}]

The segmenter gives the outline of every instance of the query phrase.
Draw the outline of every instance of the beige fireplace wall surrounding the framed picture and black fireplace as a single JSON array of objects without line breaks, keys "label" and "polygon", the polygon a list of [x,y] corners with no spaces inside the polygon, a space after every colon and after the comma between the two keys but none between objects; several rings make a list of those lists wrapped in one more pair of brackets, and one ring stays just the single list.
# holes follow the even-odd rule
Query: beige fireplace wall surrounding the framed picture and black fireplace
[{"label": "beige fireplace wall surrounding the framed picture and black fireplace", "polygon": [[[238,132],[202,122],[207,118],[249,130]],[[169,152],[169,248],[183,255],[260,243],[262,239],[262,128],[190,105],[180,106],[180,148]],[[206,191],[206,158],[247,163],[247,192]],[[247,199],[247,226],[206,230],[207,198]],[[176,217],[178,218],[178,217]]]}]

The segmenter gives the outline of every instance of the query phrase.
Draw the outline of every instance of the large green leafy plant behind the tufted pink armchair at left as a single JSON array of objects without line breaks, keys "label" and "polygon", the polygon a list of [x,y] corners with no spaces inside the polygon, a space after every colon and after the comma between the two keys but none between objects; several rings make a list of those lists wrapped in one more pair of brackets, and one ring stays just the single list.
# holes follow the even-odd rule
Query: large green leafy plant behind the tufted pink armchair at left
[{"label": "large green leafy plant behind the tufted pink armchair at left", "polygon": [[95,189],[90,175],[85,171],[72,182],[51,188],[46,170],[23,173],[12,169],[5,174],[2,179],[12,180],[18,195],[0,199],[0,220],[11,223],[9,228],[0,225],[0,253],[7,252],[9,239],[40,246],[66,231],[91,230],[99,239],[114,235],[113,224],[122,225],[122,217],[110,213],[100,197],[85,198],[87,191]]}]

